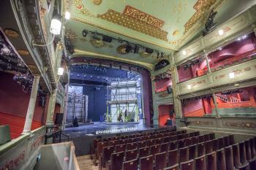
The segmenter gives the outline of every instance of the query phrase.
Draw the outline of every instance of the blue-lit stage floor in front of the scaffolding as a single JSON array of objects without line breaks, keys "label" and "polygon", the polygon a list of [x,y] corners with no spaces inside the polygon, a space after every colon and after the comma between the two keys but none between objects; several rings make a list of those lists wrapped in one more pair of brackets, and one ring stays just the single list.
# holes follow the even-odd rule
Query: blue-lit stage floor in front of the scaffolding
[{"label": "blue-lit stage floor in front of the scaffolding", "polygon": [[[159,126],[154,127],[159,128]],[[136,124],[106,124],[106,123],[99,123],[94,122],[91,125],[80,125],[79,127],[72,127],[72,128],[65,128],[64,133],[74,136],[75,134],[78,136],[90,136],[90,135],[97,135],[97,134],[118,134],[123,132],[130,132],[130,131],[146,131],[154,129],[152,127],[147,127],[143,124],[143,122],[136,123]]]}]

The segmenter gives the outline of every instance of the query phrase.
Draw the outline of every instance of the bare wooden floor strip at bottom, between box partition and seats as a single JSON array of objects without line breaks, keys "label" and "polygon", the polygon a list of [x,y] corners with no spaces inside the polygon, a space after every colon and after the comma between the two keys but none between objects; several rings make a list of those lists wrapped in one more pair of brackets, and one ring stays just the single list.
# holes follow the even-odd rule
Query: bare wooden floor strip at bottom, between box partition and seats
[{"label": "bare wooden floor strip at bottom, between box partition and seats", "polygon": [[94,166],[93,161],[90,159],[89,155],[78,156],[78,165],[80,170],[98,170],[99,166]]}]

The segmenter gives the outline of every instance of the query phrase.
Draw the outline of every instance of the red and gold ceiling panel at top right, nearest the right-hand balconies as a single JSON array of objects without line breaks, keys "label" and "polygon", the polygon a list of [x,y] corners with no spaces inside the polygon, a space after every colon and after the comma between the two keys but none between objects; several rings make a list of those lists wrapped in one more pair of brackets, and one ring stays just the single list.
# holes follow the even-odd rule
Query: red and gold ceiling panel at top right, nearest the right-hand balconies
[{"label": "red and gold ceiling panel at top right, nearest the right-hand balconies", "polygon": [[187,21],[185,24],[185,33],[189,31],[189,28],[194,26],[197,23],[197,20],[201,18],[204,12],[208,10],[217,0],[198,0],[195,5],[194,9],[196,10],[195,14]]}]

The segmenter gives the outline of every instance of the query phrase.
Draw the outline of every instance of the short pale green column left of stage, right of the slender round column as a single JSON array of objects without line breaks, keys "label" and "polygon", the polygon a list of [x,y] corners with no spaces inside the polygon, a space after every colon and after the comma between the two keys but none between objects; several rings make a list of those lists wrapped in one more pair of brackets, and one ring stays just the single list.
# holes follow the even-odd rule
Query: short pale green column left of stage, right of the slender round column
[{"label": "short pale green column left of stage, right of the slender round column", "polygon": [[46,125],[53,125],[53,115],[56,104],[57,88],[50,94]]}]

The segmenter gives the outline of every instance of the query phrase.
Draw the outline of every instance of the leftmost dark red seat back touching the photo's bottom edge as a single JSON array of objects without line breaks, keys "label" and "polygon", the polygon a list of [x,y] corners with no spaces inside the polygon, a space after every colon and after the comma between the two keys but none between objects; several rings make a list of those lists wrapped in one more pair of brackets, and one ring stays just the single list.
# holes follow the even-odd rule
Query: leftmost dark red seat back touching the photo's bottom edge
[{"label": "leftmost dark red seat back touching the photo's bottom edge", "polygon": [[124,161],[124,152],[114,152],[110,158],[110,170],[121,170]]}]

